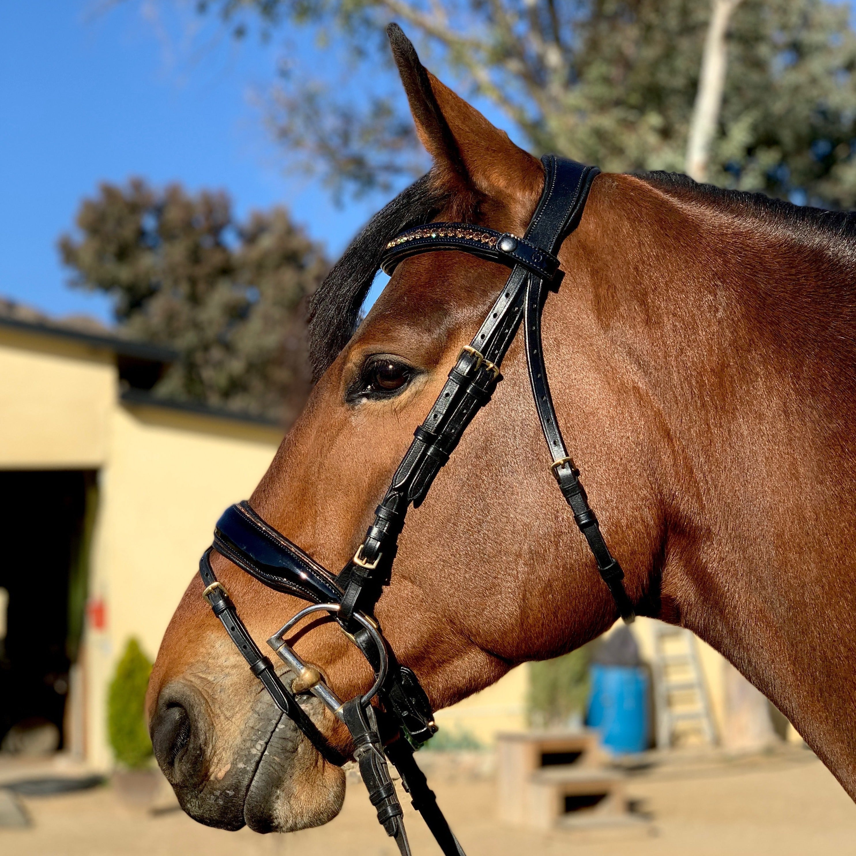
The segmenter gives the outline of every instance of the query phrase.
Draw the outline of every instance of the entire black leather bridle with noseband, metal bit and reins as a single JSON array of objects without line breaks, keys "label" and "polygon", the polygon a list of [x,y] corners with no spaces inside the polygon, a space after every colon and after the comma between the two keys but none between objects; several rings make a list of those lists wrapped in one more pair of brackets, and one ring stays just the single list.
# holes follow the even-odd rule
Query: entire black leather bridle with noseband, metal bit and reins
[{"label": "entire black leather bridle with noseband, metal bit and reins", "polygon": [[[397,235],[383,251],[381,267],[388,274],[402,259],[436,250],[473,253],[508,265],[512,270],[479,332],[458,355],[431,412],[414,432],[413,443],[377,506],[375,520],[354,558],[339,574],[331,574],[265,523],[247,502],[240,502],[228,508],[217,521],[214,544],[199,562],[199,574],[205,583],[204,597],[246,657],[253,675],[265,685],[279,710],[332,764],[341,765],[346,758],[330,746],[296,696],[312,693],[347,726],[354,741],[354,758],[360,764],[360,774],[377,808],[377,819],[395,837],[404,856],[409,856],[410,847],[386,758],[400,772],[413,806],[425,818],[443,853],[463,856],[463,851],[413,758],[413,750],[437,731],[431,704],[413,671],[396,661],[374,618],[374,607],[383,586],[389,583],[407,508],[411,504],[418,506],[425,499],[467,425],[490,401],[502,379],[502,358],[521,321],[532,395],[552,456],[550,471],[574,513],[621,617],[633,621],[633,605],[622,582],[624,573],[609,553],[580,483],[580,473],[562,440],[541,353],[541,310],[546,291],[556,288],[562,278],[556,253],[580,223],[591,181],[599,170],[553,155],[545,156],[542,162],[544,191],[524,237],[468,223],[427,223]],[[211,550],[217,550],[265,586],[312,603],[268,639],[270,648],[295,675],[290,688],[259,651],[228,592],[217,581],[211,568]],[[375,683],[365,695],[342,702],[318,670],[304,663],[285,641],[302,619],[315,613],[334,617],[371,664]],[[377,706],[372,705],[375,699]]]}]

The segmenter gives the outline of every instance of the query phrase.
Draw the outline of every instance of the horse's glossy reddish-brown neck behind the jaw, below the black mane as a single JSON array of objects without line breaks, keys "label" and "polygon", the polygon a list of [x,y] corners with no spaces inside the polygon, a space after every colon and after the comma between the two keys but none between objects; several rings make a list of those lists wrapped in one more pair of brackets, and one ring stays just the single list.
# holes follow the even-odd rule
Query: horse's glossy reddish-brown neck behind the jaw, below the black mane
[{"label": "horse's glossy reddish-brown neck behind the jaw, below the black mane", "polygon": [[594,312],[657,414],[653,612],[734,663],[856,797],[842,724],[856,703],[856,324],[841,296],[856,271],[633,181],[602,209],[598,242],[625,276]]}]

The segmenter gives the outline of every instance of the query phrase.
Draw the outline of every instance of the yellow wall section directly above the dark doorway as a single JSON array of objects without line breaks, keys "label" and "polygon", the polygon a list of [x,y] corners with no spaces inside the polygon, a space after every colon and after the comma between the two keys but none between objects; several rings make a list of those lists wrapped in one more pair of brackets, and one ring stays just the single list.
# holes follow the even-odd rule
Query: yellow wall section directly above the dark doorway
[{"label": "yellow wall section directly above the dark doorway", "polygon": [[0,468],[97,469],[115,399],[111,354],[0,330]]}]

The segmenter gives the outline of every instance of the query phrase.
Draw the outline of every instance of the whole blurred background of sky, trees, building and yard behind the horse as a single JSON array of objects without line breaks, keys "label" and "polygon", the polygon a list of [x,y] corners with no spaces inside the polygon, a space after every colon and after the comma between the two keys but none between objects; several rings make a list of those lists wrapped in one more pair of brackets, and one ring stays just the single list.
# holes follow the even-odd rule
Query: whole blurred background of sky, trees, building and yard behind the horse
[{"label": "whole blurred background of sky, trees, building and yard behind the horse", "polygon": [[[0,850],[393,853],[353,776],[323,829],[193,823],[142,714],[212,521],[308,395],[307,300],[429,165],[389,21],[533,153],[849,209],[854,14],[845,0],[0,5]],[[856,808],[788,721],[657,621],[515,669],[437,722],[420,763],[468,853],[856,852]]]}]

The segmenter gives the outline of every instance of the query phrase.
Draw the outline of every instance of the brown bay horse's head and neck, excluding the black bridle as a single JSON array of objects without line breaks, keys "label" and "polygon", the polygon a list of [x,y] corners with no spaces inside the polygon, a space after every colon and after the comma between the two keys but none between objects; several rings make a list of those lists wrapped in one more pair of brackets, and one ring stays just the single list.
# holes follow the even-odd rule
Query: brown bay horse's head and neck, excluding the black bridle
[{"label": "brown bay horse's head and neck, excluding the black bridle", "polygon": [[[400,31],[397,31],[400,33]],[[354,555],[446,373],[502,288],[500,265],[407,259],[355,328],[401,229],[522,235],[544,170],[392,46],[433,166],[379,212],[312,304],[318,377],[250,504],[327,568]],[[544,307],[544,355],[639,615],[688,627],[776,707],[856,799],[856,222],[681,175],[597,175]],[[435,708],[556,657],[617,610],[544,460],[520,338],[504,379],[411,512],[377,602]],[[305,604],[213,553],[256,639]],[[256,682],[194,578],[147,698],[182,807],[223,829],[326,823],[344,776]],[[294,648],[342,698],[372,673],[330,622]],[[348,731],[306,711],[348,755]]]}]

